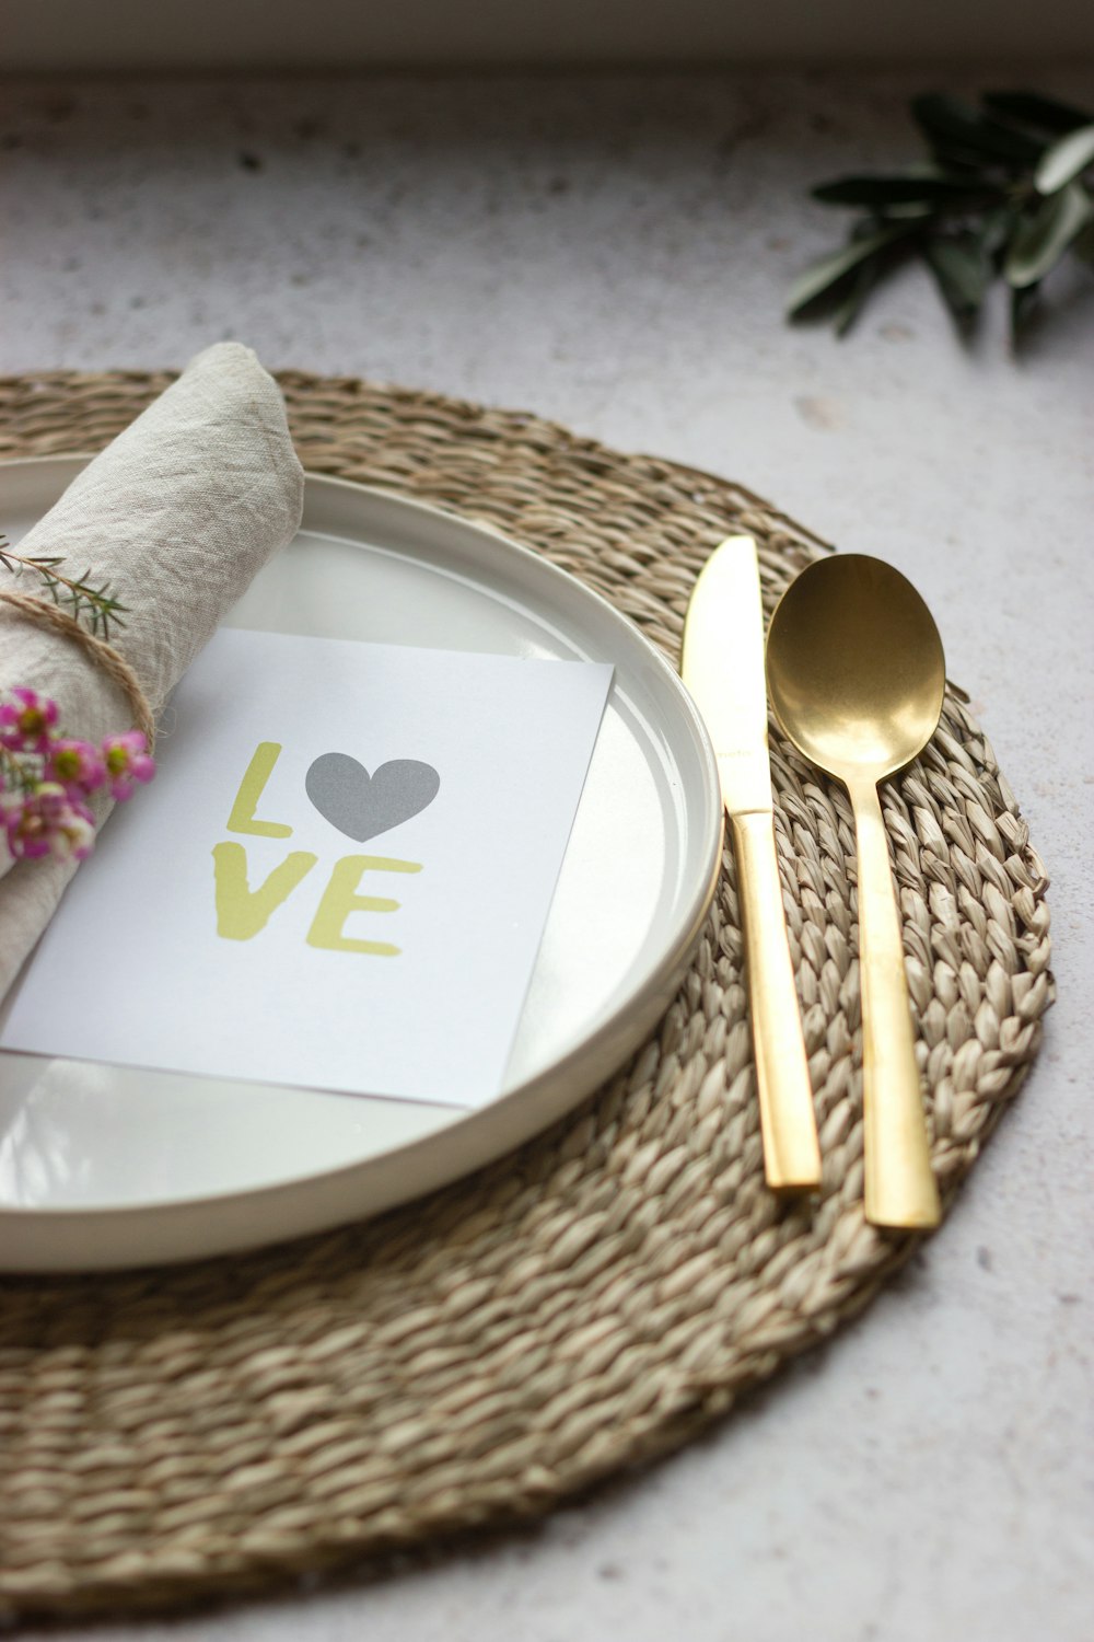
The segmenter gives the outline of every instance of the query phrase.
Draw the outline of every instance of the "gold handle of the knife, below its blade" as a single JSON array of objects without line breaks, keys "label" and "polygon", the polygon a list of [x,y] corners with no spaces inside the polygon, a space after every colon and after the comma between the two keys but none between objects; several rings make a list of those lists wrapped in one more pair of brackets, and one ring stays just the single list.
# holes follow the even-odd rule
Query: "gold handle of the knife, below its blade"
[{"label": "gold handle of the knife, below its blade", "polygon": [[804,1192],[820,1186],[820,1144],[786,938],[774,823],[768,811],[748,811],[730,816],[730,824],[745,926],[764,1174],[773,1192]]}]

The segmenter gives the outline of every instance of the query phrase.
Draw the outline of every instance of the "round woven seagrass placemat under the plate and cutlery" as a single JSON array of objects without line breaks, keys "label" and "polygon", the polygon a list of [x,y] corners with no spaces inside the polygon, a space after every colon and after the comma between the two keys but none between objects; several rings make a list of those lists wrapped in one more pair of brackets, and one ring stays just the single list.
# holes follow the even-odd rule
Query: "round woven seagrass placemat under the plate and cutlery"
[{"label": "round woven seagrass placemat under the plate and cutlery", "polygon": [[[107,443],[167,374],[0,381],[0,453]],[[307,468],[500,525],[672,660],[705,555],[764,603],[825,552],[738,484],[533,415],[285,373]],[[531,1516],[682,1443],[832,1333],[915,1246],[863,1220],[855,851],[773,737],[825,1187],[764,1189],[735,870],[656,1034],[566,1121],[382,1218],[266,1253],[0,1279],[0,1617],[256,1589]],[[1040,1043],[1046,880],[963,695],[886,790],[951,1202]]]}]

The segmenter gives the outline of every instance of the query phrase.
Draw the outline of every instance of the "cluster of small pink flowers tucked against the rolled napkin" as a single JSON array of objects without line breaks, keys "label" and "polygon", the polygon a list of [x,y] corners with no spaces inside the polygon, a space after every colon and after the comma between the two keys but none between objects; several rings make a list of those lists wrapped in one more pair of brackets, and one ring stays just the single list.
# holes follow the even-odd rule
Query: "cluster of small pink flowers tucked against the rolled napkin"
[{"label": "cluster of small pink flowers tucked against the rolled napkin", "polygon": [[156,773],[141,731],[95,745],[64,736],[57,719],[56,701],[34,690],[0,691],[0,828],[16,860],[84,860],[95,839],[89,796],[105,787],[125,801]]}]

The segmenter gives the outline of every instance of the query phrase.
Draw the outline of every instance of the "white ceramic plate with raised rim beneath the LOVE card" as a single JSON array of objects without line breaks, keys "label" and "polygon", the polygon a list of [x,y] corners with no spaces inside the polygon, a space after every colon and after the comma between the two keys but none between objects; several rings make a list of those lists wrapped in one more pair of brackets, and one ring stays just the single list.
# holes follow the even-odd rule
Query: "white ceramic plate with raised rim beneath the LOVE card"
[{"label": "white ceramic plate with raised rim beneath the LOVE card", "polygon": [[[85,461],[0,465],[11,542]],[[453,1181],[595,1089],[694,947],[720,859],[713,754],[672,668],[572,576],[438,509],[308,478],[297,539],[228,626],[615,663],[505,1089],[461,1113],[0,1053],[3,1269],[220,1254]]]}]

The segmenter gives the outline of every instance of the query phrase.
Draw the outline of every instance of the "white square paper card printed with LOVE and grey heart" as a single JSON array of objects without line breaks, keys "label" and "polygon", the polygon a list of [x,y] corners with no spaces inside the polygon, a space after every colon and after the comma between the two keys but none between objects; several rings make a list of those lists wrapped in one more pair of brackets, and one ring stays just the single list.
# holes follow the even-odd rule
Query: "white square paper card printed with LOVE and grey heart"
[{"label": "white square paper card printed with LOVE and grey heart", "polygon": [[3,1046],[494,1098],[610,681],[221,631],[174,695],[156,780],[66,892]]}]

